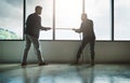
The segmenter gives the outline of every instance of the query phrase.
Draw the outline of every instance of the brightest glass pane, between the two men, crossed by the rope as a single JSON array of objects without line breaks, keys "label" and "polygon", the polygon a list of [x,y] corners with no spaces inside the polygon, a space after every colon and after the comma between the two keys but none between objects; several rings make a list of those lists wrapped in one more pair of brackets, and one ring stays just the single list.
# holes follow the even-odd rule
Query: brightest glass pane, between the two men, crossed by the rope
[{"label": "brightest glass pane, between the two men, crossed by the rope", "polygon": [[82,0],[55,0],[55,39],[79,40],[78,33],[70,30],[80,27]]}]

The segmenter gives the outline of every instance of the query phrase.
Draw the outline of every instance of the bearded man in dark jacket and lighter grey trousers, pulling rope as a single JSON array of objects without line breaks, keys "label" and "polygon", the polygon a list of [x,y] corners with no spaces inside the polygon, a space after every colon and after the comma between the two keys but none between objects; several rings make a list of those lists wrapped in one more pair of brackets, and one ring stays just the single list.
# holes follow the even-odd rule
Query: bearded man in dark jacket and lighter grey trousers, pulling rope
[{"label": "bearded man in dark jacket and lighter grey trousers, pulling rope", "polygon": [[25,39],[26,39],[26,45],[25,45],[25,51],[24,51],[24,56],[22,60],[22,66],[27,65],[27,55],[30,50],[31,43],[34,44],[36,55],[39,60],[39,66],[46,65],[47,63],[43,60],[41,56],[41,52],[39,50],[39,32],[40,30],[49,30],[51,28],[49,27],[42,27],[41,26],[41,17],[39,16],[41,14],[42,6],[37,5],[35,8],[35,13],[30,14],[27,17],[26,20],[26,27],[25,27]]}]

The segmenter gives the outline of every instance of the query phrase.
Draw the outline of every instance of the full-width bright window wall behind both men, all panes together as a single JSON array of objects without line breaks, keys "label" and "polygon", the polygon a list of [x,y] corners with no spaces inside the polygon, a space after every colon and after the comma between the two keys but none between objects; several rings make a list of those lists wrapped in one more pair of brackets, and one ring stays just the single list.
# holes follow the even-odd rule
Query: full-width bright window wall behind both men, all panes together
[{"label": "full-width bright window wall behind both men, all panes together", "polygon": [[80,27],[82,12],[93,20],[96,40],[130,40],[129,3],[129,0],[1,0],[0,40],[23,40],[23,25],[36,5],[43,8],[42,26],[52,27],[40,31],[40,40],[80,40],[81,34],[72,29]]}]

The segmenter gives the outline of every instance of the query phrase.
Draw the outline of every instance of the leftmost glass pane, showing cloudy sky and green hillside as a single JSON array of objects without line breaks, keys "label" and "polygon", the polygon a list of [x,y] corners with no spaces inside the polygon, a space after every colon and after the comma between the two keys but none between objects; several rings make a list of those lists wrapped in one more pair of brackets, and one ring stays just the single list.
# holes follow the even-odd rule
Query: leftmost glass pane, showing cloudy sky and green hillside
[{"label": "leftmost glass pane, showing cloudy sky and green hillside", "polygon": [[23,39],[24,0],[0,0],[0,40]]}]

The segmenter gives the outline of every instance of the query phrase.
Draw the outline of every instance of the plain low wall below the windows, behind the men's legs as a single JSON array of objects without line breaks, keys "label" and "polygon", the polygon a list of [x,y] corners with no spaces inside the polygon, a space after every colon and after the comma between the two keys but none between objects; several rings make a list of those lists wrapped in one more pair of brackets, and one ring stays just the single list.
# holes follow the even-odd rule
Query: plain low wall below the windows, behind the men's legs
[{"label": "plain low wall below the windows, behind the men's legs", "polygon": [[[72,63],[80,42],[78,41],[41,41],[42,56],[50,63]],[[20,63],[24,52],[24,41],[0,41],[1,63]],[[83,52],[84,61],[89,61],[89,45]],[[82,59],[82,57],[81,57]],[[28,63],[37,61],[31,46]],[[130,42],[96,42],[96,63],[130,63]]]}]

